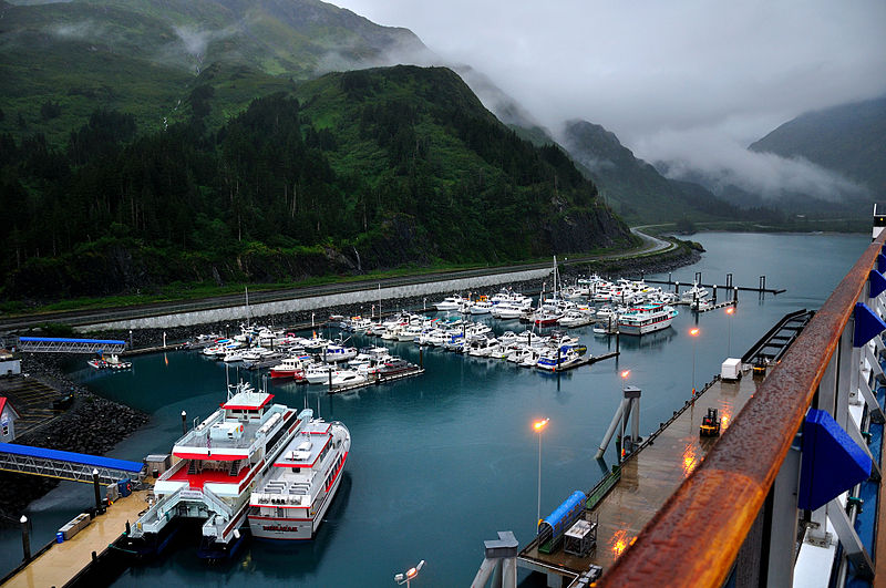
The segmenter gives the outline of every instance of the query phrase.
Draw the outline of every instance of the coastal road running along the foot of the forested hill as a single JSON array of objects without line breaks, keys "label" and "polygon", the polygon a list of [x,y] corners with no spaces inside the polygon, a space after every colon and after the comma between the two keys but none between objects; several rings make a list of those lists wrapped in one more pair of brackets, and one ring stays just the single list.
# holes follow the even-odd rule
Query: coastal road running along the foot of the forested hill
[{"label": "coastal road running along the foot of the forested hill", "polygon": [[[606,259],[625,259],[635,256],[658,255],[674,249],[673,243],[659,239],[642,233],[643,227],[632,228],[631,231],[642,239],[642,245],[619,252],[573,256],[560,259],[564,264],[574,265],[588,261],[599,261]],[[457,271],[440,271],[434,274],[422,274],[416,276],[403,276],[395,278],[382,278],[373,280],[352,281],[347,283],[328,283],[322,286],[309,286],[302,288],[282,288],[277,290],[262,290],[249,292],[249,302],[274,302],[278,300],[291,300],[295,298],[307,298],[313,296],[328,296],[333,293],[352,292],[359,290],[370,290],[379,286],[384,288],[408,286],[411,283],[452,280],[459,278],[470,278],[476,276],[487,276],[491,274],[503,274],[521,271],[527,269],[542,269],[549,267],[550,261],[539,261],[537,264],[523,264],[518,266],[496,266]],[[41,312],[21,316],[0,316],[0,334],[16,332],[22,329],[38,327],[45,323],[60,323],[78,327],[94,322],[105,322],[110,320],[124,320],[141,317],[154,317],[157,314],[173,314],[176,312],[190,312],[195,310],[208,310],[214,308],[226,308],[240,306],[244,303],[244,295],[226,295],[200,300],[188,300],[182,302],[154,302],[147,305],[134,305],[128,307],[70,310],[58,312]]]}]

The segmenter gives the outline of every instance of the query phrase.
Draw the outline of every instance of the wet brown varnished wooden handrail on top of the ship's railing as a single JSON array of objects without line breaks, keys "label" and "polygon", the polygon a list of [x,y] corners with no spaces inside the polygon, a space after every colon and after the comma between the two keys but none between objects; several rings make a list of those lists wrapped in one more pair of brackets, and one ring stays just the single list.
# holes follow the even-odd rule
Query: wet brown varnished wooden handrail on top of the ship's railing
[{"label": "wet brown varnished wooden handrail on top of the ship's railing", "polygon": [[884,237],[865,250],[704,462],[598,586],[722,586],[853,316]]}]

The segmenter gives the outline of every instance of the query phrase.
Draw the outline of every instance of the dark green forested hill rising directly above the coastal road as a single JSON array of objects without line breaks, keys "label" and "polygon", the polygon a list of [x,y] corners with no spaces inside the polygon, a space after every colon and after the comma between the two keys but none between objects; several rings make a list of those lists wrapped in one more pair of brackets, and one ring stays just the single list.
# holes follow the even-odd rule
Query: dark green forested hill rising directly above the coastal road
[{"label": "dark green forested hill rising directly above the coastal road", "polygon": [[99,109],[63,147],[3,134],[3,297],[503,262],[631,239],[559,148],[518,138],[447,69],[327,74],[215,130],[229,104],[217,94],[239,72],[207,68],[188,116],[166,128]]}]

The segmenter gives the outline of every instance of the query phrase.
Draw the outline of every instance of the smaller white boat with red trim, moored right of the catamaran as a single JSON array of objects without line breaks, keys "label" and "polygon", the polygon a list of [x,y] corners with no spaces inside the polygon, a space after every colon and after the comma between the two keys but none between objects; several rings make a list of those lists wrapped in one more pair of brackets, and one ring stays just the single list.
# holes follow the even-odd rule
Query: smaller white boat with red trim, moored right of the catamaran
[{"label": "smaller white boat with red trim, moored right of the catamaran", "polygon": [[259,539],[311,539],[341,484],[351,433],[340,422],[298,415],[295,436],[249,498],[249,529]]}]

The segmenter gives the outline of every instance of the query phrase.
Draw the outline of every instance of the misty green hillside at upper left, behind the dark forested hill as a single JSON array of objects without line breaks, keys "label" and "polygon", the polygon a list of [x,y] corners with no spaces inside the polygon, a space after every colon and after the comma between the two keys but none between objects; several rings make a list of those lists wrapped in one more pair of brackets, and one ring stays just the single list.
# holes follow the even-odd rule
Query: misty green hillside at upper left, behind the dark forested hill
[{"label": "misty green hillside at upper left, behind the dark forested hill", "polygon": [[55,145],[95,107],[131,113],[140,128],[186,120],[179,101],[205,83],[198,75],[207,68],[237,73],[227,82],[231,92],[217,97],[213,122],[224,122],[254,97],[291,87],[290,79],[426,51],[409,30],[317,0],[0,7],[0,132],[40,132]]}]

